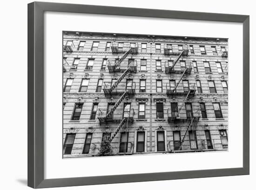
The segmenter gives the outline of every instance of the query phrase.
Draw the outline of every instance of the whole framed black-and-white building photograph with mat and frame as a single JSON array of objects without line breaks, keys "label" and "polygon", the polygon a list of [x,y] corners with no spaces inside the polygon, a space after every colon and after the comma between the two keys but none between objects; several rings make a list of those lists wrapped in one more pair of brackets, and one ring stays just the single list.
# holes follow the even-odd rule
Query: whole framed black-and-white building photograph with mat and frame
[{"label": "whole framed black-and-white building photograph with mat and frame", "polygon": [[248,15],[28,4],[28,186],[247,174]]}]

